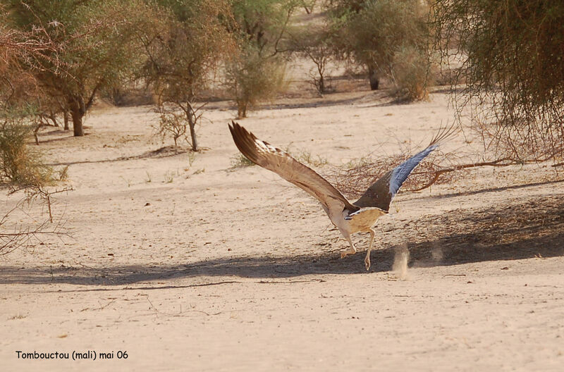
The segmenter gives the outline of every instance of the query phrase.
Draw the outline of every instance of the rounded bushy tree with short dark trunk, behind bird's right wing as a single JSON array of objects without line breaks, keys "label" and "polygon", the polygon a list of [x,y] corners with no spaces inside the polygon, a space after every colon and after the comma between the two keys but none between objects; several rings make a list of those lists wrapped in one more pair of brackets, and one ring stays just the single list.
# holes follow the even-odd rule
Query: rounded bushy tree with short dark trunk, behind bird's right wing
[{"label": "rounded bushy tree with short dark trunk, behind bird's right wing", "polygon": [[419,0],[329,0],[328,7],[337,56],[364,66],[373,90],[397,73],[398,51],[427,56],[427,6]]}]

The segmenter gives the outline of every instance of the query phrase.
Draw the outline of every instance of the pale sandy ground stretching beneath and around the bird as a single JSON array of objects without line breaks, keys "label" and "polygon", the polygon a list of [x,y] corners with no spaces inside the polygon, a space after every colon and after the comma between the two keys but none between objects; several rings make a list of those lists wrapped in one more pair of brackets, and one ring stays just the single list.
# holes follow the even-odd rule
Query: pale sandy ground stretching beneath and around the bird
[{"label": "pale sandy ground stretching beneath and around the bird", "polygon": [[[452,118],[431,99],[288,99],[240,123],[338,164],[428,141]],[[400,193],[367,272],[365,237],[339,259],[346,243],[314,199],[231,168],[233,116],[209,106],[195,156],[154,152],[149,106],[98,109],[82,138],[40,136],[47,161],[68,165],[74,191],[54,212],[71,236],[1,257],[0,371],[562,371],[564,183],[550,166]]]}]

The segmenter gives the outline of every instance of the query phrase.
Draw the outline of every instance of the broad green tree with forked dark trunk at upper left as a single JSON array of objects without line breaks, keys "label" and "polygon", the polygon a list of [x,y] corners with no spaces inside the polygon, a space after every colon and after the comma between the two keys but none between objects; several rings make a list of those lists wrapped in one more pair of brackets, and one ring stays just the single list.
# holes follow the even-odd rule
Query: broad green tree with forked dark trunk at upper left
[{"label": "broad green tree with forked dark trunk at upper left", "polygon": [[75,136],[84,135],[82,121],[97,92],[115,85],[139,62],[131,25],[140,0],[8,1],[9,21],[21,32],[42,30],[56,46],[37,58],[24,59],[44,97],[60,102],[73,120]]}]

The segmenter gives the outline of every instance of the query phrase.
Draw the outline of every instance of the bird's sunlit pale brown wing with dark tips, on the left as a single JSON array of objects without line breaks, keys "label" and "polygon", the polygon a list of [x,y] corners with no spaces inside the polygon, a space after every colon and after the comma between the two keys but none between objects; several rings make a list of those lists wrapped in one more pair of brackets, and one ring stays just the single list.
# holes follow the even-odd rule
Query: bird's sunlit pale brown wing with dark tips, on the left
[{"label": "bird's sunlit pale brown wing with dark tips, on the left", "polygon": [[[343,209],[357,211],[360,208],[350,204],[331,183],[311,168],[305,166],[285,151],[278,149],[268,142],[259,140],[251,132],[234,121],[229,125],[235,145],[243,155],[253,163],[277,173],[281,178],[292,182],[294,185],[305,190],[308,194],[316,197],[325,211],[331,216],[332,213],[341,213]],[[331,211],[331,213],[330,213]]]}]

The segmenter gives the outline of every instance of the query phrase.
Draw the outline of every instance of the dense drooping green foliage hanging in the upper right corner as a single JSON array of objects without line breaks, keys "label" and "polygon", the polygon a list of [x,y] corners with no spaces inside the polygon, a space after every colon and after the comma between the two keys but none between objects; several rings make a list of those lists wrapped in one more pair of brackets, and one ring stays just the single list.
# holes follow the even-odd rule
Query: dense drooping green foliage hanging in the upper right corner
[{"label": "dense drooping green foliage hanging in the upper right corner", "polygon": [[564,2],[437,0],[436,48],[458,63],[485,147],[511,159],[564,159]]}]

